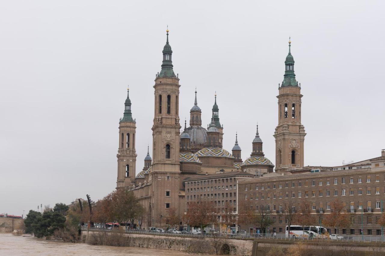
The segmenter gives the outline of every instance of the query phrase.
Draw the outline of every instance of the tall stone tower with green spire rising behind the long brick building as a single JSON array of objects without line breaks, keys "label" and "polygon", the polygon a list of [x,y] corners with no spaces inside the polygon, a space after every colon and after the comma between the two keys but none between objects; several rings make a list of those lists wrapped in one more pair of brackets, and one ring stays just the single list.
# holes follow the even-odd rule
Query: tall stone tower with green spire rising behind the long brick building
[{"label": "tall stone tower with green spire rising behind the long brick building", "polygon": [[285,75],[279,86],[278,126],[275,128],[276,172],[303,167],[305,127],[301,124],[301,87],[295,79],[294,58],[290,52],[285,60]]}]

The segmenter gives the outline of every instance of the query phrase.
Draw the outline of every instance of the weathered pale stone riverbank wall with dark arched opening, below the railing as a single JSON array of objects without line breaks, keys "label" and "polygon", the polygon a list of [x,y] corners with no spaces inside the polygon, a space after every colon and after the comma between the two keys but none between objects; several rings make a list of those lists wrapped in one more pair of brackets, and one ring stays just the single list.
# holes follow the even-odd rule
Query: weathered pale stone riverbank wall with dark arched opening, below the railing
[{"label": "weathered pale stone riverbank wall with dark arched opening, below the railing", "polygon": [[[91,236],[97,236],[98,233],[100,232],[82,231],[82,240],[87,241],[88,239],[92,239]],[[122,236],[129,237],[129,243],[127,246],[149,249],[168,249],[191,253],[215,254],[214,246],[215,244],[220,244],[219,250],[228,248],[228,253],[230,255],[251,255],[253,249],[253,240],[243,239],[221,239],[220,241],[215,241],[213,238],[132,233],[122,233]],[[228,247],[225,244],[227,244]]]}]

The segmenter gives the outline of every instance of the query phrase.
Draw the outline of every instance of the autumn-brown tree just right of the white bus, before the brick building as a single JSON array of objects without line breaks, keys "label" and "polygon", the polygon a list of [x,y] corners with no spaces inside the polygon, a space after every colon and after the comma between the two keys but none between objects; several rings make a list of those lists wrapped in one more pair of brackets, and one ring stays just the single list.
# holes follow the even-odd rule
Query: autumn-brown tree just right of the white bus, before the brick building
[{"label": "autumn-brown tree just right of the white bus, before the brick building", "polygon": [[350,226],[350,216],[346,213],[346,209],[340,199],[334,200],[332,206],[332,211],[328,218],[325,219],[324,224],[337,229],[338,233],[338,228],[348,228]]}]

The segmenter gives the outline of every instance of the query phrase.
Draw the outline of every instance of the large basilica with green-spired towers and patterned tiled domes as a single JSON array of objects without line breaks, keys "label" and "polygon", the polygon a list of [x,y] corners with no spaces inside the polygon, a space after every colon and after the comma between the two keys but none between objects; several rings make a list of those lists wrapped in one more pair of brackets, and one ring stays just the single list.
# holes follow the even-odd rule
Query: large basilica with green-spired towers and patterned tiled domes
[{"label": "large basilica with green-spired towers and patterned tiled domes", "polygon": [[[238,145],[237,135],[231,153],[223,148],[224,128],[219,120],[216,95],[213,99],[211,120],[206,120],[210,123],[207,129],[202,127],[202,110],[198,106],[197,91],[195,91],[195,101],[190,110],[189,126],[185,121],[182,128],[179,118],[179,78],[173,70],[169,31],[166,32],[167,40],[162,51],[161,71],[157,73],[154,85],[152,157],[148,148],[144,168],[137,175],[136,121],[132,118],[128,91],[124,103],[124,115],[119,121],[116,188],[134,192],[146,208],[147,219],[144,226],[148,227],[165,226],[170,209],[173,209],[179,216],[184,214],[188,201],[192,199],[192,195],[191,198],[188,198],[186,194],[187,190],[189,191],[186,186],[192,184],[190,182],[192,180],[212,178],[216,179],[215,183],[218,179],[219,183],[220,180],[234,182],[236,179],[238,181],[242,178],[285,175],[292,170],[301,169],[303,167],[303,142],[306,135],[304,126],[301,125],[302,95],[300,84],[295,79],[294,59],[290,52],[291,42],[289,42],[289,53],[285,60],[285,75],[277,96],[278,126],[274,132],[275,165],[263,153],[263,142],[259,136],[258,125],[255,138],[250,141],[250,156],[246,160],[241,159],[241,147]],[[274,99],[272,98],[272,100]],[[141,142],[139,141],[139,143]],[[221,179],[221,177],[231,178]],[[202,181],[200,182],[202,184]],[[204,183],[206,184],[206,181]],[[213,180],[211,184],[213,184]],[[232,186],[229,185],[230,188]],[[212,186],[211,190],[213,190]],[[228,190],[227,185],[226,190]],[[236,214],[236,193],[229,193],[229,195],[230,197],[234,195],[234,200],[229,201],[231,204],[234,203],[234,214]],[[210,193],[207,196],[210,198]],[[228,193],[226,193],[226,199],[227,197]],[[206,198],[206,194],[204,198]],[[194,199],[197,198],[194,196]],[[219,205],[222,202],[223,206],[224,201],[218,202]],[[227,202],[228,200],[226,200]],[[182,219],[180,226],[184,226]]]}]

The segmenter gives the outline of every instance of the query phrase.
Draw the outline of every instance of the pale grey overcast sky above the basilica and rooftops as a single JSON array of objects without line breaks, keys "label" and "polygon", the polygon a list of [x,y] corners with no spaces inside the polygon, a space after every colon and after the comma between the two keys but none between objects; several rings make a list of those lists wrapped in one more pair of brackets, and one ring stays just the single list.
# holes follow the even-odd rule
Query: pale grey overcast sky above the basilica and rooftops
[{"label": "pale grey overcast sky above the basilica and rooftops", "polygon": [[217,91],[224,148],[245,160],[258,121],[275,163],[278,83],[291,36],[301,83],[305,165],[385,148],[383,1],[2,1],[0,213],[94,200],[116,185],[127,84],[137,173],[152,142],[166,25],[180,117],[197,86],[203,126]]}]

